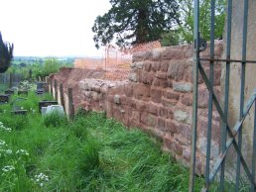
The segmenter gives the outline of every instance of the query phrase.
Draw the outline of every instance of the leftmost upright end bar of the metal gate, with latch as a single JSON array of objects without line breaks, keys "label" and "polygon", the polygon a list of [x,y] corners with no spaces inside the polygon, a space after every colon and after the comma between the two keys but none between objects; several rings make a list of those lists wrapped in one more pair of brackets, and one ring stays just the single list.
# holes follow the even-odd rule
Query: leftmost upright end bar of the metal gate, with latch
[{"label": "leftmost upright end bar of the metal gate, with latch", "polygon": [[196,152],[196,127],[197,127],[197,79],[198,79],[198,63],[199,63],[199,0],[193,1],[193,44],[194,44],[194,60],[193,60],[193,85],[192,85],[192,156],[190,167],[190,192],[193,192],[194,186],[194,167]]}]

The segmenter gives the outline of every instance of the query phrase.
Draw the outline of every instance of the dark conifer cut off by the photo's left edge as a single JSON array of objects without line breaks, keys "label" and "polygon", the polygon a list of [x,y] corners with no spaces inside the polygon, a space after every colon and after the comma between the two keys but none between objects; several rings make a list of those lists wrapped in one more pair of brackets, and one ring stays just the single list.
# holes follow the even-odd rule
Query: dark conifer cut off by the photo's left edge
[{"label": "dark conifer cut off by the photo's left edge", "polygon": [[4,43],[0,32],[0,73],[5,72],[11,65],[13,44]]}]

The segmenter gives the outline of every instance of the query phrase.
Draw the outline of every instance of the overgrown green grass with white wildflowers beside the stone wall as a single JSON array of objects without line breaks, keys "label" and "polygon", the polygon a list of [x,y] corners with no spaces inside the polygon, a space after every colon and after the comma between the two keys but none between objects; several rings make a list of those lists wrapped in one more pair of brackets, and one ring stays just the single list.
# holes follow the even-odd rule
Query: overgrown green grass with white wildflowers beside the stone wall
[{"label": "overgrown green grass with white wildflowers beside the stone wall", "polygon": [[189,169],[146,134],[104,114],[42,118],[38,101],[22,117],[0,106],[0,191],[188,191]]}]

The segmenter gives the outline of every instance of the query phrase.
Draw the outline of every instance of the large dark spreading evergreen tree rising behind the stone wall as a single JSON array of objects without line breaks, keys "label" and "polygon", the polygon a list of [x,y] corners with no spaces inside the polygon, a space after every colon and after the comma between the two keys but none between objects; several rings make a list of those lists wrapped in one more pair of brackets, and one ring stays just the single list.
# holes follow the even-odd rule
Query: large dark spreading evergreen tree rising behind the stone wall
[{"label": "large dark spreading evergreen tree rising behind the stone wall", "polygon": [[179,24],[176,0],[110,0],[112,8],[92,27],[95,47],[111,41],[119,47],[156,41]]}]

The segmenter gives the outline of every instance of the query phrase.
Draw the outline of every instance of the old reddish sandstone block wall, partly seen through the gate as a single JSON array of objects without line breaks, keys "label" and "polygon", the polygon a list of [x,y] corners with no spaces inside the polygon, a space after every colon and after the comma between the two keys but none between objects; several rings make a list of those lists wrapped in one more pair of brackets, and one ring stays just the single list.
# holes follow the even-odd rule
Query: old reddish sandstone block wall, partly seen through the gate
[{"label": "old reddish sandstone block wall, partly seen through the gate", "polygon": [[[202,52],[207,56],[208,49]],[[222,44],[216,42],[220,57]],[[203,63],[206,73],[207,63]],[[220,63],[214,65],[214,90],[220,93]],[[128,80],[101,78],[80,80],[79,106],[85,110],[104,111],[109,118],[127,127],[137,127],[157,137],[163,148],[189,166],[192,135],[192,46],[156,48],[133,55]],[[208,92],[202,79],[198,88],[198,142],[196,172],[203,173],[206,150]],[[219,145],[219,117],[213,112],[211,157]]]}]

